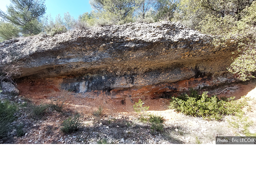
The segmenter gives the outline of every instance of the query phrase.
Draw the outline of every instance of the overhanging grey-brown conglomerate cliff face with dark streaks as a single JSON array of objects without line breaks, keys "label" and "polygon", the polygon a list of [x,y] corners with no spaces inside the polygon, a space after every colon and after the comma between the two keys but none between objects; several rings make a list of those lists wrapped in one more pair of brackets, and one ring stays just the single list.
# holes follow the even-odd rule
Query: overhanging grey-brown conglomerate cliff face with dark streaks
[{"label": "overhanging grey-brown conglomerate cliff face with dark streaks", "polygon": [[5,41],[0,65],[15,60],[22,66],[19,78],[58,78],[59,89],[84,95],[124,97],[133,90],[136,96],[235,82],[227,67],[236,45],[214,47],[212,41],[172,22],[76,29]]}]

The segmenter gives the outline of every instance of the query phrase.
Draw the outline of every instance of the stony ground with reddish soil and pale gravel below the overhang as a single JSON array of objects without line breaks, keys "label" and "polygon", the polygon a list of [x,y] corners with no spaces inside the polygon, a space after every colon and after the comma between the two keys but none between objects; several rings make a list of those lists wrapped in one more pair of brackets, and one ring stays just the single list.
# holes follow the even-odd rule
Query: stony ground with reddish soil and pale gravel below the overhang
[{"label": "stony ground with reddish soil and pale gravel below the overhang", "polygon": [[[252,121],[249,131],[256,133],[256,83],[237,84],[238,89],[228,89],[223,95],[251,96],[249,106],[244,108],[248,121]],[[216,94],[224,90],[220,87],[210,91]],[[56,97],[57,98],[57,97]],[[243,135],[242,129],[236,129],[228,123],[231,116],[224,117],[221,121],[207,121],[200,117],[185,116],[168,109],[169,99],[144,98],[147,113],[164,117],[164,131],[153,132],[148,122],[142,123],[139,114],[133,112],[132,105],[136,99],[120,101],[115,100],[85,99],[76,94],[69,95],[65,100],[62,112],[56,112],[51,107],[42,116],[33,114],[33,105],[50,103],[51,99],[33,99],[29,96],[10,96],[0,93],[0,99],[10,100],[15,103],[19,110],[14,114],[17,118],[10,124],[7,137],[0,143],[14,144],[214,144],[215,136],[238,136]],[[81,103],[81,102],[84,103]],[[95,112],[103,105],[102,113]],[[122,110],[121,110],[122,109]],[[61,131],[62,123],[69,116],[81,114],[81,127],[78,131],[65,134]],[[234,121],[234,120],[233,120]],[[22,134],[17,130],[22,129]]]}]

